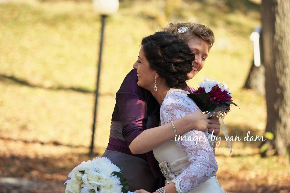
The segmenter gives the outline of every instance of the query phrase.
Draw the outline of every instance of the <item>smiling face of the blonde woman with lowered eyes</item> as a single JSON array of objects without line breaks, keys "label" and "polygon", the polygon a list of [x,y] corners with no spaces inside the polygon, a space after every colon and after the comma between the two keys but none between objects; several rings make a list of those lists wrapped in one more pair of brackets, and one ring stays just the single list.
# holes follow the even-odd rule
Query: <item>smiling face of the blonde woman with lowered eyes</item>
[{"label": "smiling face of the blonde woman with lowered eyes", "polygon": [[187,75],[188,79],[192,79],[205,65],[205,59],[208,57],[208,44],[200,38],[192,38],[187,44],[190,51],[195,55],[195,60],[192,62],[192,71]]}]

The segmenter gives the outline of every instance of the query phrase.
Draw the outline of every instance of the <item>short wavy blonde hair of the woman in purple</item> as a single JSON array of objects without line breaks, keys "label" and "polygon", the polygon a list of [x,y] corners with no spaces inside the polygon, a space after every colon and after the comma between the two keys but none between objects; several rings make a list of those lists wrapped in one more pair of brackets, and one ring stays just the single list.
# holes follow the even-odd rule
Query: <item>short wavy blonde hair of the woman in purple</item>
[{"label": "short wavy blonde hair of the woman in purple", "polygon": [[[185,33],[178,33],[177,30],[183,26],[188,27],[188,30]],[[210,50],[214,44],[214,32],[209,27],[202,24],[192,22],[178,24],[169,23],[167,27],[161,30],[178,35],[179,38],[185,42],[189,42],[192,38],[200,38],[208,44],[208,50]]]}]

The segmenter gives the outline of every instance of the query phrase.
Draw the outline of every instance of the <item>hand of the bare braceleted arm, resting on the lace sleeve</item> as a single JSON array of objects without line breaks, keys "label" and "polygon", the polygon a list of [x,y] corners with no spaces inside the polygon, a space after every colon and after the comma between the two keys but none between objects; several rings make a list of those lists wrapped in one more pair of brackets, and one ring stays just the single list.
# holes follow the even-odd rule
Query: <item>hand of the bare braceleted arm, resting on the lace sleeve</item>
[{"label": "hand of the bare braceleted arm, resting on the lace sleeve", "polygon": [[186,115],[185,118],[188,120],[188,124],[190,124],[191,128],[193,129],[199,131],[206,131],[207,128],[211,128],[210,119],[208,119],[208,115],[203,114],[201,110],[196,110],[195,112]]}]

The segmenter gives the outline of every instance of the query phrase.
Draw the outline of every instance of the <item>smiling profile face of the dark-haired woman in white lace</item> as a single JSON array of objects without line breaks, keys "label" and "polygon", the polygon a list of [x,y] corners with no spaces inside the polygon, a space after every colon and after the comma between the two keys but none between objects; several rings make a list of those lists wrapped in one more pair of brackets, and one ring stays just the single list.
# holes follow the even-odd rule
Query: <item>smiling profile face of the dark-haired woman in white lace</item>
[{"label": "smiling profile face of the dark-haired woman in white lace", "polygon": [[133,65],[134,69],[137,69],[138,86],[145,88],[146,90],[152,91],[154,89],[155,77],[157,73],[151,67],[147,61],[143,49],[141,47],[137,61]]}]

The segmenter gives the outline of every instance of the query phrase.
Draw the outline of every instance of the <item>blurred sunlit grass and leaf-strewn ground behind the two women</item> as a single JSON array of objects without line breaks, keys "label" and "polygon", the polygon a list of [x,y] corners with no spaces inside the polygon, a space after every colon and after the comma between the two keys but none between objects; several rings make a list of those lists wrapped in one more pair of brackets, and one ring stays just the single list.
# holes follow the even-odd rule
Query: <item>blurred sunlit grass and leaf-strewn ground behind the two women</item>
[{"label": "blurred sunlit grass and leaf-strewn ground behind the two women", "polygon": [[[98,156],[107,147],[115,93],[137,59],[141,39],[168,22],[193,21],[214,31],[205,67],[188,84],[196,88],[205,76],[227,83],[240,106],[224,119],[229,134],[261,136],[264,96],[242,89],[253,59],[249,37],[260,25],[259,9],[258,0],[121,0],[105,27]],[[99,38],[100,17],[91,1],[0,3],[0,177],[31,179],[42,192],[51,192],[51,186],[64,192],[71,169],[90,159]],[[219,147],[226,147],[224,142]],[[216,152],[217,175],[227,192],[290,192],[288,160],[261,158],[259,142],[232,145],[231,156],[228,150]],[[11,185],[1,187],[0,192],[12,190]],[[37,192],[34,186],[16,190]]]}]

